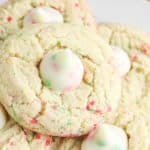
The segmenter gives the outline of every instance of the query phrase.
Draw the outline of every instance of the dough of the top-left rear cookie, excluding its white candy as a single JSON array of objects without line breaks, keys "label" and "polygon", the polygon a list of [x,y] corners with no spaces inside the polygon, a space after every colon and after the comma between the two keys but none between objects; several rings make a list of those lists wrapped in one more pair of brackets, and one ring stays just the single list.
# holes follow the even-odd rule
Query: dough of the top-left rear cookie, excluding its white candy
[{"label": "dough of the top-left rear cookie, excluding its white candy", "polygon": [[96,29],[95,19],[85,0],[9,0],[0,7],[0,38],[23,28],[24,17],[33,9],[46,6],[58,10],[64,22]]}]

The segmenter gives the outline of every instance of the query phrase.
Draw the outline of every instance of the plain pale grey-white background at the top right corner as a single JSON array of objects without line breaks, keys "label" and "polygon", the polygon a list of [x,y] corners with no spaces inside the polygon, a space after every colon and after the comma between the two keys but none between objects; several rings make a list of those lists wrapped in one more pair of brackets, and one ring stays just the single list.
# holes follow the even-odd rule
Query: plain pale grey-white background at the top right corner
[{"label": "plain pale grey-white background at the top right corner", "polygon": [[101,22],[119,22],[150,32],[150,0],[87,0]]}]

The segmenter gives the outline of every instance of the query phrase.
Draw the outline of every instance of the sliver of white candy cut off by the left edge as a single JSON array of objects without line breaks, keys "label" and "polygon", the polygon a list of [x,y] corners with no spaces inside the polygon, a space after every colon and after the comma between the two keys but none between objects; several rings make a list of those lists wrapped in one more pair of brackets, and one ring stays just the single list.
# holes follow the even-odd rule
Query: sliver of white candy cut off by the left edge
[{"label": "sliver of white candy cut off by the left edge", "polygon": [[0,129],[2,129],[5,126],[6,120],[7,115],[5,113],[5,110],[2,108],[2,106],[0,106]]}]

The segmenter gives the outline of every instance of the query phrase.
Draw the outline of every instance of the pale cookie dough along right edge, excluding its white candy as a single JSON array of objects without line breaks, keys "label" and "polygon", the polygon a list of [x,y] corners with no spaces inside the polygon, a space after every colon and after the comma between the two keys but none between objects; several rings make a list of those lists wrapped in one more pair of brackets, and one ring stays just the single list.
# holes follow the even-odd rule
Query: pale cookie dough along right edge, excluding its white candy
[{"label": "pale cookie dough along right edge, excluding its white candy", "polygon": [[150,36],[120,24],[99,24],[99,33],[108,44],[124,49],[132,63],[116,115],[107,121],[126,130],[129,150],[149,150]]}]

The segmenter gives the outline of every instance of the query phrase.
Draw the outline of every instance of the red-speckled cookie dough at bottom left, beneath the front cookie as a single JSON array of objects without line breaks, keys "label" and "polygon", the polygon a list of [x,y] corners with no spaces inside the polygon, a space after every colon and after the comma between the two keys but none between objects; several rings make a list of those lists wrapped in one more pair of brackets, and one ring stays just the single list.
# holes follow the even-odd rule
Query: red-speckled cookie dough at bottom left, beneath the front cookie
[{"label": "red-speckled cookie dough at bottom left, beneath the front cookie", "polygon": [[80,139],[56,138],[23,129],[6,114],[0,105],[0,114],[7,118],[0,129],[1,150],[69,150],[79,148]]}]

